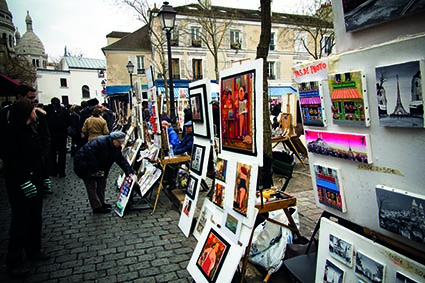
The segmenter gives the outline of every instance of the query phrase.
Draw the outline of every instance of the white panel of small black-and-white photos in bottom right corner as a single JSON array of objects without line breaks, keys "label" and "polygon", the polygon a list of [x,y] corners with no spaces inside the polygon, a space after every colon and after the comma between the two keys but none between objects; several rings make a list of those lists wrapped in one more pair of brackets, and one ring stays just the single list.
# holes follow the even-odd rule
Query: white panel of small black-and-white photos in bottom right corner
[{"label": "white panel of small black-and-white photos in bottom right corner", "polygon": [[[321,218],[315,282],[423,282],[425,266]],[[335,259],[335,260],[334,260]]]}]

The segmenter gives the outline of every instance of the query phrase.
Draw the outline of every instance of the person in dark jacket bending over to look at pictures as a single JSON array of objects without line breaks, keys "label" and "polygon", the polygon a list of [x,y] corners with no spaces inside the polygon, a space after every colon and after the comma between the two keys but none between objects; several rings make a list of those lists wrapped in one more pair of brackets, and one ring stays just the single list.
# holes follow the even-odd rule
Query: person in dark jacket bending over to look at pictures
[{"label": "person in dark jacket bending over to look at pictures", "polygon": [[124,140],[123,132],[112,132],[86,143],[74,156],[74,172],[84,181],[94,214],[111,212],[105,191],[112,164],[117,163],[127,176],[132,175],[131,166],[121,152]]}]

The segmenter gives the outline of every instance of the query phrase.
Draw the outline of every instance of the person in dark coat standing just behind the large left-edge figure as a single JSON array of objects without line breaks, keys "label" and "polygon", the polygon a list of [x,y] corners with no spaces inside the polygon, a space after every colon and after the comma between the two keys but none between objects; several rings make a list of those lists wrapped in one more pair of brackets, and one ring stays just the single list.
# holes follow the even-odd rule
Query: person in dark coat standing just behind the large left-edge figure
[{"label": "person in dark coat standing just behind the large left-edge figure", "polygon": [[62,107],[60,100],[53,97],[49,105],[46,106],[46,118],[50,131],[50,164],[49,175],[60,178],[66,176],[66,145],[68,139],[68,127],[72,125],[71,116],[65,107]]}]

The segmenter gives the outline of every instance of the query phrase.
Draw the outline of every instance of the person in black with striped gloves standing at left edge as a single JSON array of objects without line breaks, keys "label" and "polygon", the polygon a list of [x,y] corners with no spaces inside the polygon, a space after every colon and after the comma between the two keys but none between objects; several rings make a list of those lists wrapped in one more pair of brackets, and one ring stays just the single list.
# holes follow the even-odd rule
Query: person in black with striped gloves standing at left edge
[{"label": "person in black with striped gloves standing at left edge", "polygon": [[7,270],[12,276],[25,276],[22,251],[34,260],[47,260],[41,250],[43,179],[42,144],[34,122],[35,105],[18,100],[10,110],[9,123],[0,138],[6,189],[11,207]]}]

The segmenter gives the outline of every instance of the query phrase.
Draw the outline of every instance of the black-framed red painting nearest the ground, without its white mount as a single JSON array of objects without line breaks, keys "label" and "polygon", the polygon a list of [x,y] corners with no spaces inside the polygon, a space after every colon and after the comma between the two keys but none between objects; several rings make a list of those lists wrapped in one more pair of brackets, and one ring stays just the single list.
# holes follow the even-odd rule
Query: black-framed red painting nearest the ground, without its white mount
[{"label": "black-framed red painting nearest the ground, without its white mount", "polygon": [[208,282],[216,282],[229,249],[230,244],[211,228],[196,260],[196,266]]}]

